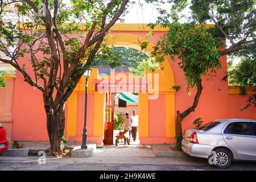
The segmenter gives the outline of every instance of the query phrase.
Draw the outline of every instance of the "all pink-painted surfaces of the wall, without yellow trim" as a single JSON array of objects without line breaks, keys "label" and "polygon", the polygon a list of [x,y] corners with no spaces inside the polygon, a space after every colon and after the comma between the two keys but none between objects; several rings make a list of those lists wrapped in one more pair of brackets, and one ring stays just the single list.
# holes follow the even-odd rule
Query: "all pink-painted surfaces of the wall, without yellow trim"
[{"label": "all pink-painted surfaces of the wall, without yellow trim", "polygon": [[[119,31],[121,33],[121,31]],[[113,32],[117,33],[117,32]],[[145,36],[146,32],[126,31],[125,33]],[[159,39],[159,36],[164,32],[155,32],[155,35],[149,40],[153,43]],[[19,57],[20,65],[27,64],[29,57]],[[256,119],[255,108],[240,111],[246,104],[247,96],[238,96],[228,94],[228,84],[226,81],[221,81],[226,73],[226,57],[221,57],[222,68],[218,69],[217,76],[210,80],[203,78],[203,93],[200,97],[199,105],[196,110],[189,114],[183,121],[183,129],[193,127],[192,122],[196,118],[201,117],[204,122],[212,121],[220,118],[252,118]],[[191,96],[186,92],[186,82],[183,72],[170,60],[172,70],[174,72],[176,85],[181,85],[181,90],[175,95],[175,110],[184,111],[192,105],[195,90],[192,90]],[[30,75],[34,75],[32,68],[27,64],[26,70]],[[40,90],[31,87],[23,81],[23,76],[17,72],[17,78],[14,86],[14,105],[13,105],[13,140],[48,140],[46,129],[46,114],[43,107],[43,96]],[[32,76],[33,77],[33,76]],[[34,77],[33,77],[34,78]],[[84,96],[79,94],[78,102],[78,117],[77,117],[77,136],[81,136],[82,125],[84,119]],[[88,98],[88,134],[92,135],[93,131],[93,96]],[[159,136],[160,138],[165,133],[164,112],[161,102],[164,101],[164,96],[160,96],[158,100],[150,100],[150,136]],[[155,105],[158,105],[156,107]],[[161,126],[161,127],[160,127]],[[157,128],[157,129],[155,129]],[[72,138],[71,138],[72,139]],[[81,140],[81,137],[73,138],[73,140]],[[151,138],[144,139],[149,143]],[[166,142],[169,139],[162,138]]]}]

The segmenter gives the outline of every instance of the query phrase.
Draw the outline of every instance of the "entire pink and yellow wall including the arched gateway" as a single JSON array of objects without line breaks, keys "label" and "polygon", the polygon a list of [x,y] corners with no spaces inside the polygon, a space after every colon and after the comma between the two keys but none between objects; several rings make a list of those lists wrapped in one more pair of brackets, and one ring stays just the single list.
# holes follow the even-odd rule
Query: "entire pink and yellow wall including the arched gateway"
[{"label": "entire pink and yellow wall including the arched gateway", "polygon": [[[145,41],[144,36],[150,28],[146,24],[115,24],[112,36],[108,36],[109,46],[130,47],[141,50],[139,42]],[[156,26],[154,36],[147,38],[147,54],[168,31]],[[43,55],[42,55],[43,56]],[[28,57],[18,57],[20,64],[27,64]],[[168,58],[169,59],[169,58]],[[220,57],[221,69],[210,80],[203,77],[204,90],[196,110],[183,120],[183,129],[191,129],[196,118],[203,118],[205,123],[222,118],[255,119],[255,108],[241,111],[246,105],[248,96],[239,95],[239,87],[228,86],[222,78],[226,76],[226,56]],[[185,78],[177,63],[170,64],[166,59],[162,63],[163,70],[154,73],[146,71],[145,76],[138,77],[126,73],[112,73],[99,76],[93,69],[89,78],[87,128],[88,141],[102,145],[104,140],[104,120],[106,92],[98,92],[106,86],[129,84],[129,88],[139,90],[139,140],[141,144],[175,143],[175,111],[184,111],[193,102],[195,92],[187,94]],[[9,69],[9,65],[0,63],[0,69]],[[173,70],[172,70],[173,69]],[[34,73],[32,67],[27,71]],[[175,76],[175,80],[174,80]],[[7,129],[10,140],[47,141],[46,113],[42,93],[23,80],[20,72],[5,75],[6,86],[0,88],[0,123]],[[146,90],[144,85],[146,84]],[[181,85],[177,94],[171,86]],[[96,88],[97,86],[97,88]],[[247,88],[247,94],[255,94],[254,87]],[[110,90],[111,91],[111,90]],[[132,89],[125,90],[133,92]],[[107,91],[109,92],[109,90]],[[113,92],[113,91],[112,91]],[[107,100],[108,101],[108,100]],[[81,78],[72,96],[68,100],[65,134],[69,141],[81,141],[84,127],[85,79]],[[105,137],[106,139],[106,137]]]}]

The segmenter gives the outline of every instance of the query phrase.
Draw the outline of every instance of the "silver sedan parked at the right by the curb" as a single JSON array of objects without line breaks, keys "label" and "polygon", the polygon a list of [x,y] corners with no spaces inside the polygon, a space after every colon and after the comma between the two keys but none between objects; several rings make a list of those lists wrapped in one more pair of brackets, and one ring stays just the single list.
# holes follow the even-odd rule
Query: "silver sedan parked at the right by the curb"
[{"label": "silver sedan parked at the right by the curb", "polygon": [[208,159],[217,168],[232,160],[256,160],[256,120],[219,119],[185,130],[181,142],[188,155]]}]

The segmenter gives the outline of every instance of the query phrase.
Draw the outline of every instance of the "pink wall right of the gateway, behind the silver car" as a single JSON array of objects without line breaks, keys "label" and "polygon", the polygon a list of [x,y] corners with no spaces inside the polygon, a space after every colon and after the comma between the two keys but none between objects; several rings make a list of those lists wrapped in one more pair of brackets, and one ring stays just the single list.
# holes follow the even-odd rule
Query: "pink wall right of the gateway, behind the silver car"
[{"label": "pink wall right of the gateway, behind the silver car", "polygon": [[[146,32],[126,31],[126,33],[141,37],[146,35]],[[148,40],[156,43],[163,34],[165,32],[154,32],[154,36],[151,36]],[[178,61],[174,62],[170,57],[168,57],[168,60],[174,72],[175,84],[181,86],[181,90],[176,92],[175,95],[175,113],[177,110],[182,112],[192,105],[196,90],[192,90],[191,96],[188,96],[184,72],[177,65]],[[205,123],[223,118],[256,119],[256,109],[254,107],[243,111],[240,110],[246,105],[249,96],[228,94],[228,82],[221,81],[227,72],[226,56],[220,57],[220,61],[221,68],[218,69],[216,76],[212,78],[203,77],[203,93],[201,94],[199,104],[196,110],[183,120],[183,130],[194,127],[192,122],[199,117]]]}]

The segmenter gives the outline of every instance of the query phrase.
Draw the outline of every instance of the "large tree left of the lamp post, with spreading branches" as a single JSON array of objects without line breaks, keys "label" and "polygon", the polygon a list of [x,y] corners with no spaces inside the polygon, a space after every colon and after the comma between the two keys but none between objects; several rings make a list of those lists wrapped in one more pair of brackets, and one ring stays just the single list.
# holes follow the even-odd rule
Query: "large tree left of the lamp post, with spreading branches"
[{"label": "large tree left of the lamp post, with spreading branches", "polygon": [[[61,154],[65,104],[99,49],[106,50],[104,37],[128,2],[1,1],[0,51],[9,59],[0,58],[0,61],[12,65],[22,73],[24,81],[42,92],[54,155]],[[6,9],[10,5],[16,10]],[[6,20],[10,13],[18,17],[18,22]],[[39,57],[39,53],[44,56]],[[30,59],[27,64],[20,65],[19,56],[29,56]],[[26,71],[27,66],[34,68],[33,74]]]}]

